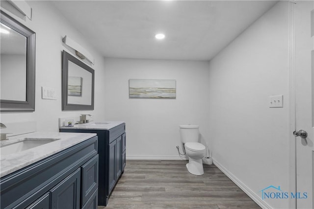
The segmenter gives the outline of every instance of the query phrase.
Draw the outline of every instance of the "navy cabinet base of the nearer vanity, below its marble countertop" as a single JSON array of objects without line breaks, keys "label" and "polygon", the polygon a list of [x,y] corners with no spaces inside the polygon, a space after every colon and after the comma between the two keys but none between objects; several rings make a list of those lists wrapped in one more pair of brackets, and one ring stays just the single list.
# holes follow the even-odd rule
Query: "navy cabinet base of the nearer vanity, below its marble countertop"
[{"label": "navy cabinet base of the nearer vanity, below its marble countertop", "polygon": [[1,177],[0,209],[97,209],[98,160],[96,136]]}]

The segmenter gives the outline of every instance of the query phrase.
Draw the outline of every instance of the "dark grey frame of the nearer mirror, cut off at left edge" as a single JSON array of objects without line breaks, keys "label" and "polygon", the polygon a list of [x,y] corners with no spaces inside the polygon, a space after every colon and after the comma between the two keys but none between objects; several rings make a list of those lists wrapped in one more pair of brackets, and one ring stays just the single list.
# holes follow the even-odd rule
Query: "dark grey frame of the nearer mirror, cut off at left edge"
[{"label": "dark grey frame of the nearer mirror, cut off at left edge", "polygon": [[2,10],[0,22],[26,37],[26,101],[0,100],[1,112],[33,112],[35,111],[35,32],[16,21]]}]

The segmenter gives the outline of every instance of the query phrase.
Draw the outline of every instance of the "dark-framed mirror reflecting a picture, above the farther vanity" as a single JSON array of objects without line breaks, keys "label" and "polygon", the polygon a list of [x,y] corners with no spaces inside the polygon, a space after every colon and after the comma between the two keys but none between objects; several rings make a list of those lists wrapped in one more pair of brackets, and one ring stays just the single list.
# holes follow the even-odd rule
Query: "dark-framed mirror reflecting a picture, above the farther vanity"
[{"label": "dark-framed mirror reflecting a picture, above the farther vanity", "polygon": [[94,110],[94,70],[62,51],[62,110]]}]

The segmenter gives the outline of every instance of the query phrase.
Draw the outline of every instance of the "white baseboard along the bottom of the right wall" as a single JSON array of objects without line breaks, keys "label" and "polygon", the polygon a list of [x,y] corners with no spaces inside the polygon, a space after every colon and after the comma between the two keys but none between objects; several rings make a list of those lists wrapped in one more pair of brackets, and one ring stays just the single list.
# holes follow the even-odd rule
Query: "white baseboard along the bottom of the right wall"
[{"label": "white baseboard along the bottom of the right wall", "polygon": [[249,187],[243,184],[240,180],[238,180],[229,170],[227,170],[224,166],[220,163],[212,159],[213,163],[224,173],[228,176],[231,181],[233,181],[240,189],[242,189],[256,204],[258,204],[263,209],[271,209],[271,207],[261,199],[259,195],[257,195],[254,191],[252,191]]}]

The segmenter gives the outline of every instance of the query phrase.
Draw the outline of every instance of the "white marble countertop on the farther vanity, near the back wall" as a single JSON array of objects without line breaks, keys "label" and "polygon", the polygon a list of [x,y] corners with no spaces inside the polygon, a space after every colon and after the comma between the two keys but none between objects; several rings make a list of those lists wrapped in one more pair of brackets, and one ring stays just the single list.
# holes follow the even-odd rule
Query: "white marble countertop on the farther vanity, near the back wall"
[{"label": "white marble countertop on the farther vanity, near the back wall", "polygon": [[124,123],[123,121],[104,121],[104,122],[94,122],[84,124],[75,124],[72,127],[70,126],[61,126],[60,129],[100,129],[100,130],[109,130],[120,124]]}]

